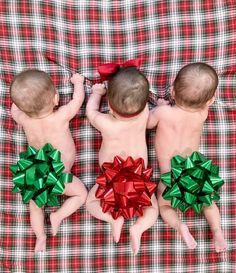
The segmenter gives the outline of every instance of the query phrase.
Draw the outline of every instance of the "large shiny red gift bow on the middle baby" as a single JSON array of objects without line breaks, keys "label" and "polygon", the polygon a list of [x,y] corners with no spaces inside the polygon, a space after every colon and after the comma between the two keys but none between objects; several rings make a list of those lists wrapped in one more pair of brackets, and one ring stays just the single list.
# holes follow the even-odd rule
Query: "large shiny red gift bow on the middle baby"
[{"label": "large shiny red gift bow on the middle baby", "polygon": [[152,168],[144,168],[142,158],[123,160],[115,156],[112,163],[102,165],[104,173],[96,179],[95,196],[100,199],[102,211],[111,213],[114,219],[142,216],[143,207],[151,206],[151,196],[156,184],[150,181]]}]

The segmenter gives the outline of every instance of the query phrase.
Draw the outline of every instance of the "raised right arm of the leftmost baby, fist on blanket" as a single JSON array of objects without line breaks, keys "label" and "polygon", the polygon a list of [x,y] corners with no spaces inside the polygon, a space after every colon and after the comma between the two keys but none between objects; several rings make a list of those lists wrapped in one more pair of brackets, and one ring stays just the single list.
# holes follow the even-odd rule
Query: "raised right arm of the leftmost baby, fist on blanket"
[{"label": "raised right arm of the leftmost baby, fist on blanket", "polygon": [[74,84],[74,93],[72,100],[59,108],[59,112],[63,112],[63,116],[71,120],[78,112],[84,101],[84,77],[78,73],[71,77]]}]

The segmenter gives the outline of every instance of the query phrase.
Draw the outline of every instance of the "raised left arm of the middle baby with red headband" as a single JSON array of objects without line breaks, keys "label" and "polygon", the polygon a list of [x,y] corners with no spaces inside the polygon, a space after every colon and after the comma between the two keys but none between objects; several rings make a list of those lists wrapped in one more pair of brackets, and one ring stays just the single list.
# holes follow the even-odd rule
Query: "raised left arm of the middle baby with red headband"
[{"label": "raised left arm of the middle baby with red headband", "polygon": [[106,89],[103,84],[95,84],[92,87],[92,94],[89,97],[86,106],[86,115],[90,123],[99,131],[101,131],[102,125],[106,118],[106,114],[99,112],[99,106],[101,98],[106,94]]}]

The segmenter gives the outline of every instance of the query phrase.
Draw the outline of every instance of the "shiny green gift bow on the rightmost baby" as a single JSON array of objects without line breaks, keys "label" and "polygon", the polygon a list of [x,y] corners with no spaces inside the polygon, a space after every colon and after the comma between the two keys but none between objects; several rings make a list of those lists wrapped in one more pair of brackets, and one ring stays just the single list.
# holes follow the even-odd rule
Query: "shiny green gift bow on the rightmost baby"
[{"label": "shiny green gift bow on the rightmost baby", "polygon": [[224,184],[218,166],[199,152],[187,158],[174,156],[171,171],[162,174],[161,180],[167,186],[162,196],[171,201],[173,208],[182,212],[193,208],[197,213],[203,204],[210,206],[212,200],[220,199],[218,190]]}]

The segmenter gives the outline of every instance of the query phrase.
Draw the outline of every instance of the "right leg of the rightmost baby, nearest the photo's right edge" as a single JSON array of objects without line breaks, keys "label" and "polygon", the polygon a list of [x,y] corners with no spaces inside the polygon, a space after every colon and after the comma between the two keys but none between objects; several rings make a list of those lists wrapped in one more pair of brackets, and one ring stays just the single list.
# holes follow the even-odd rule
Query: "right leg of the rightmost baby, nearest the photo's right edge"
[{"label": "right leg of the rightmost baby, nearest the photo's right edge", "polygon": [[227,249],[227,244],[220,227],[220,213],[218,207],[213,202],[210,207],[203,208],[203,213],[213,233],[216,252],[225,251]]}]

